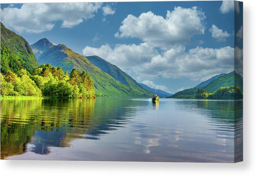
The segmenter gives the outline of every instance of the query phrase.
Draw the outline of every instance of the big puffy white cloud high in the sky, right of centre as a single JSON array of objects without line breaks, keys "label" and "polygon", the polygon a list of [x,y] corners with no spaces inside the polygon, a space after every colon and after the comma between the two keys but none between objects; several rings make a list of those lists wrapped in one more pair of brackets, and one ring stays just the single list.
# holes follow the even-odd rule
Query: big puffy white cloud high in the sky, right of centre
[{"label": "big puffy white cloud high in the sky, right of centre", "polygon": [[190,42],[196,34],[204,34],[204,13],[197,7],[175,7],[167,11],[166,18],[151,11],[136,17],[128,15],[115,37],[140,38],[153,47],[169,49]]}]

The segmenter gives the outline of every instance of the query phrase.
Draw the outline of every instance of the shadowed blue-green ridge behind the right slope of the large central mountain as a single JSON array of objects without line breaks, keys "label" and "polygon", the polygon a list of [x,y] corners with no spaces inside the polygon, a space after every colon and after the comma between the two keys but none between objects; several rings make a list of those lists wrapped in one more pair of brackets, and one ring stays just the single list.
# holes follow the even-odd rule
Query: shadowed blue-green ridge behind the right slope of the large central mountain
[{"label": "shadowed blue-green ridge behind the right slope of the large central mountain", "polygon": [[145,94],[151,96],[151,93],[144,89],[139,83],[137,83],[131,76],[122,71],[116,65],[113,65],[106,60],[100,58],[99,56],[86,56],[86,58],[96,67],[99,67],[102,71],[109,74],[120,83],[129,86],[134,92],[140,92],[141,94]]}]

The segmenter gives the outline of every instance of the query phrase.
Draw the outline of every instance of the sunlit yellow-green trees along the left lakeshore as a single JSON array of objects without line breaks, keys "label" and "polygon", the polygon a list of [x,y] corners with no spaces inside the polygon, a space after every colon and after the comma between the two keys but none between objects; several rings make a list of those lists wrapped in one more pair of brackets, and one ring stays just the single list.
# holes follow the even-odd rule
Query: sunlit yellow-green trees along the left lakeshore
[{"label": "sunlit yellow-green trees along the left lakeshore", "polygon": [[1,96],[96,98],[94,83],[85,71],[73,69],[68,75],[61,67],[42,64],[29,73],[1,73]]}]

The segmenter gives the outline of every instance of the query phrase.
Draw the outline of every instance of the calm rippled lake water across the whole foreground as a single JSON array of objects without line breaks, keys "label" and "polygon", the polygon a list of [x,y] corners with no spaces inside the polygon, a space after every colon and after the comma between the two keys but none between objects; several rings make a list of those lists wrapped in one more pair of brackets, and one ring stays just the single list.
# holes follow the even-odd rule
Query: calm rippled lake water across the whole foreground
[{"label": "calm rippled lake water across the whole foreground", "polygon": [[1,159],[234,162],[242,129],[243,101],[3,100]]}]

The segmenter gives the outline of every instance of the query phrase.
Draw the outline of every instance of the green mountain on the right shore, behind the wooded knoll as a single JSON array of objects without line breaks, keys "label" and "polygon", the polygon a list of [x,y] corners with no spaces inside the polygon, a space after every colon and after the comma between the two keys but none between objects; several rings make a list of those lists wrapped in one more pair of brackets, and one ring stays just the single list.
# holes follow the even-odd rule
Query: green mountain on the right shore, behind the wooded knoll
[{"label": "green mountain on the right shore, behind the wooded knoll", "polygon": [[[224,74],[223,76],[219,76],[217,79],[212,80],[210,83],[208,83],[204,87],[200,87],[200,89],[203,89],[208,93],[214,93],[215,91],[219,90],[221,87],[227,87],[232,85],[236,85],[241,89],[241,91],[243,91],[243,79],[235,71],[232,71],[228,74]],[[195,98],[197,89],[198,88],[196,87],[191,89],[185,89],[183,91],[179,91],[173,94],[169,98]]]}]

